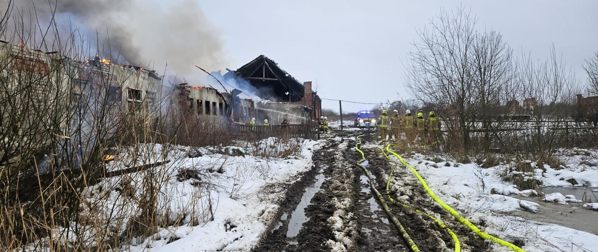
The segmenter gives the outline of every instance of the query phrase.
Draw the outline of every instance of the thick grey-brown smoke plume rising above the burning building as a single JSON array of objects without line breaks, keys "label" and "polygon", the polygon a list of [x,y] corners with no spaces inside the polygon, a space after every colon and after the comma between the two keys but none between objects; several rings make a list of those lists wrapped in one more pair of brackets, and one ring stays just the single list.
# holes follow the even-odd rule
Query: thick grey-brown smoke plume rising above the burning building
[{"label": "thick grey-brown smoke plume rising above the burning building", "polygon": [[[191,64],[222,69],[227,59],[218,32],[195,0],[17,0],[13,21],[22,15],[32,25],[50,23],[52,13],[59,32],[78,29],[85,43],[106,59],[161,70],[169,75],[203,79]],[[2,11],[7,1],[0,3]],[[54,11],[55,10],[55,11]],[[17,14],[17,15],[14,15]],[[16,16],[19,16],[15,19]],[[27,26],[28,24],[25,24]],[[10,24],[9,24],[10,26]],[[10,27],[9,27],[10,28]],[[37,33],[41,33],[37,29]],[[61,34],[62,36],[62,34]],[[84,45],[86,46],[86,45]],[[197,76],[194,78],[194,76]]]}]

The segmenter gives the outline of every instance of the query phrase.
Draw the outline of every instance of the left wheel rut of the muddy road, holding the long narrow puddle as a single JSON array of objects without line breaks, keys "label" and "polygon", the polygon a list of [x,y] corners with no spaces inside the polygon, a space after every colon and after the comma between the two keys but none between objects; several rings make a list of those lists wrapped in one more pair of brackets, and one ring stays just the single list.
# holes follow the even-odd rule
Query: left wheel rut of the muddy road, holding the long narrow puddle
[{"label": "left wheel rut of the muddy road, holding the long narrow puddle", "polygon": [[[338,137],[348,133],[337,132]],[[347,145],[344,140],[344,146]],[[327,225],[334,214],[334,192],[338,182],[337,156],[344,147],[343,142],[328,139],[324,146],[313,155],[313,168],[304,175],[301,185],[288,193],[286,202],[281,205],[278,225],[268,232],[260,245],[252,251],[329,251],[327,242],[334,239],[335,233]],[[340,147],[339,147],[340,146]],[[336,173],[336,174],[335,174]],[[313,185],[321,182],[319,190]],[[308,192],[309,190],[312,190]],[[317,191],[317,192],[315,192]],[[305,197],[308,193],[312,198]],[[306,207],[307,206],[307,207]],[[303,215],[304,214],[304,215]],[[307,220],[306,220],[307,219]]]}]

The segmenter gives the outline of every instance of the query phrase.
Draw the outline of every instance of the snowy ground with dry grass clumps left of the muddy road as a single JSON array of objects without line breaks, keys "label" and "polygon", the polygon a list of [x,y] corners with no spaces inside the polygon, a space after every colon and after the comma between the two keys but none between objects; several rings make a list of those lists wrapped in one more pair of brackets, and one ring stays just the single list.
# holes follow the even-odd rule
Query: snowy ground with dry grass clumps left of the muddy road
[{"label": "snowy ground with dry grass clumps left of the muddy road", "polygon": [[[133,223],[142,223],[151,205],[145,199],[151,198],[149,188],[153,188],[159,190],[152,201],[158,219],[169,224],[150,231],[149,237],[133,236],[131,242],[124,242],[124,250],[251,250],[277,220],[289,185],[312,168],[312,154],[321,143],[269,138],[218,148],[169,146],[164,150],[165,146],[148,144],[139,146],[142,151],[135,150],[135,155],[116,153],[107,170],[120,170],[126,163],[170,162],[86,188],[81,215],[93,218],[98,226],[87,225],[86,239],[91,246],[96,235],[122,235]],[[131,161],[131,156],[138,161]],[[56,232],[53,239],[81,237]]]}]

